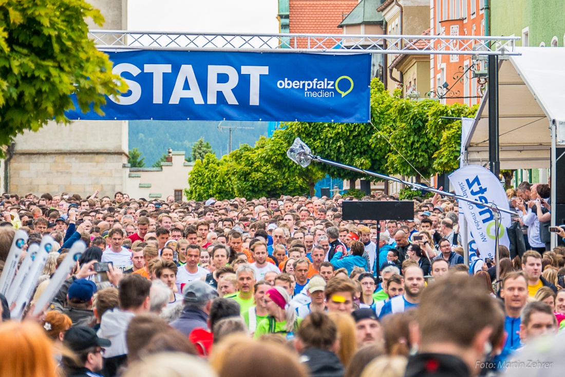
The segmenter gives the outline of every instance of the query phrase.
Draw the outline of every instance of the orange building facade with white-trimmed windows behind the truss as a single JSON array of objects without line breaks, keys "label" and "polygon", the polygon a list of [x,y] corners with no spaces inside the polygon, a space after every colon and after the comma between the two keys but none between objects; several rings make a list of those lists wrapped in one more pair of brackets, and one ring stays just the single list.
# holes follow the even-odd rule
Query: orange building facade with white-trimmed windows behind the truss
[{"label": "orange building facade with white-trimmed windows behind the truss", "polygon": [[[431,35],[483,36],[484,11],[484,0],[432,0]],[[429,97],[449,105],[479,103],[485,80],[473,77],[473,71],[484,69],[484,62],[473,62],[470,55],[431,55]]]}]

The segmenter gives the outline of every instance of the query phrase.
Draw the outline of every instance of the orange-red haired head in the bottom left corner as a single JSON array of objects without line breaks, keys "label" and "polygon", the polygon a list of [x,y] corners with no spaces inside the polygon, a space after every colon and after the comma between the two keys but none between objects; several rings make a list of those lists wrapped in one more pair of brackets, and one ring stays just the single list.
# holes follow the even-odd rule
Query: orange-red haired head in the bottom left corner
[{"label": "orange-red haired head in the bottom left corner", "polygon": [[[0,324],[0,374],[14,377],[58,377],[53,341],[33,322]],[[9,356],[9,357],[8,357]]]}]

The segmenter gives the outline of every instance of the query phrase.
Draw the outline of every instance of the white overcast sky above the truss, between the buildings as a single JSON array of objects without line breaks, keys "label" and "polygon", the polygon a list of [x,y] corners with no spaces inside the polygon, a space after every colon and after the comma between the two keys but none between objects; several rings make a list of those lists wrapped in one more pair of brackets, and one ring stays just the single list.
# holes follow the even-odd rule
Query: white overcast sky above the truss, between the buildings
[{"label": "white overcast sky above the truss, between the buildings", "polygon": [[278,33],[277,0],[129,0],[128,30]]}]

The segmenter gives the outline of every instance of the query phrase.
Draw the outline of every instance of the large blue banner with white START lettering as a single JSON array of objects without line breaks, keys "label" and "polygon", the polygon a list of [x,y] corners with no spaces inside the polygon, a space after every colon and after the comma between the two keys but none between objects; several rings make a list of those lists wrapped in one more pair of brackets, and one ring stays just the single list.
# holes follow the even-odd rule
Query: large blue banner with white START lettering
[{"label": "large blue banner with white START lettering", "polygon": [[370,120],[370,54],[138,50],[108,55],[128,92],[108,97],[103,116],[74,110],[67,112],[69,119]]}]

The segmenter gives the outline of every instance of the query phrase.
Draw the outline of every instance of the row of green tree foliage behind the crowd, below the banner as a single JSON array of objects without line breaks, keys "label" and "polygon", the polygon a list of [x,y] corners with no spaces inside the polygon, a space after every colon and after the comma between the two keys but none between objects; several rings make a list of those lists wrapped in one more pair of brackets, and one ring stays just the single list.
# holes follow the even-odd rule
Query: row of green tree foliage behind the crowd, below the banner
[{"label": "row of green tree foliage behind the crowd, below the banner", "polygon": [[[392,95],[379,80],[371,83],[370,123],[290,122],[253,147],[244,144],[221,159],[207,154],[189,176],[189,199],[278,197],[314,194],[325,175],[344,180],[377,180],[366,174],[313,162],[302,168],[286,150],[300,137],[320,157],[388,175],[427,178],[458,167],[460,121],[444,116],[472,116],[476,107],[410,101]],[[202,140],[203,142],[203,140]],[[415,193],[406,193],[413,195]]]}]

